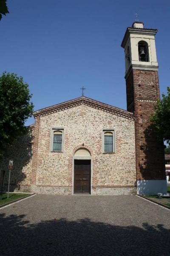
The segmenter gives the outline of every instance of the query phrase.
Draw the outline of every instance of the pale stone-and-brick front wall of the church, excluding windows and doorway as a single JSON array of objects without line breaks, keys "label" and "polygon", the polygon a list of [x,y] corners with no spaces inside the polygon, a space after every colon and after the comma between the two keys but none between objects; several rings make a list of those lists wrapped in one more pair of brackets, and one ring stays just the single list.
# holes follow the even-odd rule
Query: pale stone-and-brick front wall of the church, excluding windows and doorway
[{"label": "pale stone-and-brick front wall of the church, excluding windows and doorway", "polygon": [[[51,151],[52,128],[64,129],[63,152]],[[102,153],[103,129],[115,130],[115,153]],[[136,192],[133,120],[80,105],[40,116],[37,131],[33,192],[72,194],[74,153],[81,147],[91,152],[91,194]]]}]

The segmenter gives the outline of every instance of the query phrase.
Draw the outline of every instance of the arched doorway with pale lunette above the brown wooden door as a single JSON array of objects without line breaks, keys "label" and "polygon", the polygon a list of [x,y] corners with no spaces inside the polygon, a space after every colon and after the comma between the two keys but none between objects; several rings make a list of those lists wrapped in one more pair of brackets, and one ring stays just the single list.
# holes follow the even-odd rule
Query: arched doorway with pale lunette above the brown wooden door
[{"label": "arched doorway with pale lunette above the brown wooden door", "polygon": [[91,194],[91,154],[86,148],[74,154],[74,194]]}]

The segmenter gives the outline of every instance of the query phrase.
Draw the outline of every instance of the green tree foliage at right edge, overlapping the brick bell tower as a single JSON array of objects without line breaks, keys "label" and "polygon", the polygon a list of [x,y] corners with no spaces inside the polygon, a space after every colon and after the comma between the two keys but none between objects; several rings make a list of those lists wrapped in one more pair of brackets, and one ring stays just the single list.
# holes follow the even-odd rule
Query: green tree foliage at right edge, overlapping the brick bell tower
[{"label": "green tree foliage at right edge, overlapping the brick bell tower", "polygon": [[159,138],[170,145],[170,87],[167,87],[167,96],[162,94],[162,99],[157,101],[155,114],[150,118],[156,128]]}]

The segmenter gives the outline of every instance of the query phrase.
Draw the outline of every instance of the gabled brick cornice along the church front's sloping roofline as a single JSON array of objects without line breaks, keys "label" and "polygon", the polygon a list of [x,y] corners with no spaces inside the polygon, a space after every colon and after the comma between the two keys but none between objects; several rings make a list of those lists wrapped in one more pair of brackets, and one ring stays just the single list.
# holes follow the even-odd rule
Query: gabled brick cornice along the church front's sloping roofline
[{"label": "gabled brick cornice along the church front's sloping roofline", "polygon": [[131,112],[128,112],[128,111],[123,110],[121,108],[113,107],[111,105],[96,101],[94,99],[90,99],[90,98],[85,97],[85,96],[81,96],[81,97],[76,98],[76,99],[72,99],[72,100],[69,100],[69,101],[66,101],[66,102],[62,102],[62,103],[59,103],[57,105],[53,105],[53,106],[50,106],[50,107],[47,107],[47,108],[42,108],[40,110],[34,111],[33,115],[34,115],[34,117],[46,116],[46,115],[49,115],[51,113],[56,113],[56,112],[59,112],[59,111],[64,111],[64,110],[69,109],[69,108],[74,108],[74,107],[77,107],[79,105],[86,105],[86,106],[89,106],[91,108],[95,108],[95,109],[99,109],[101,111],[105,111],[107,113],[112,113],[116,116],[124,117],[126,119],[131,119],[131,120],[134,119],[134,114],[131,113]]}]

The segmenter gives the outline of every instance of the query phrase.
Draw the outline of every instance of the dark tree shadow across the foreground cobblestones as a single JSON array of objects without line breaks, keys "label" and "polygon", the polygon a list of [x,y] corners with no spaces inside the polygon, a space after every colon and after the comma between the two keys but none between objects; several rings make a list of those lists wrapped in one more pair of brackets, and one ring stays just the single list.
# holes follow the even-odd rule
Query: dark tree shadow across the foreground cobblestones
[{"label": "dark tree shadow across the foreground cobblestones", "polygon": [[169,256],[170,230],[163,225],[116,226],[90,219],[30,224],[25,215],[0,214],[2,256]]}]

